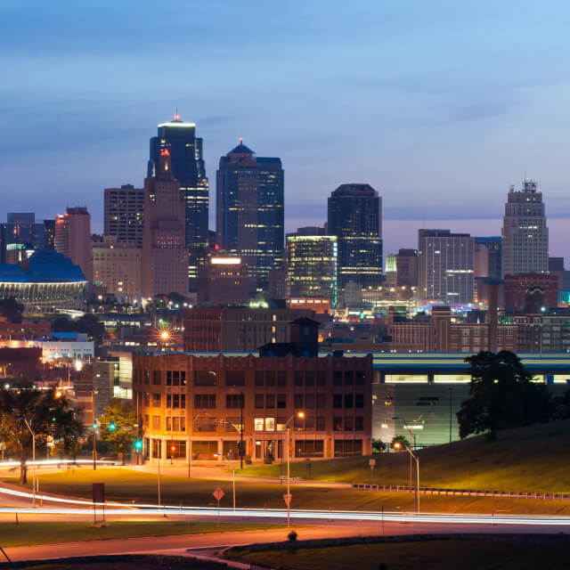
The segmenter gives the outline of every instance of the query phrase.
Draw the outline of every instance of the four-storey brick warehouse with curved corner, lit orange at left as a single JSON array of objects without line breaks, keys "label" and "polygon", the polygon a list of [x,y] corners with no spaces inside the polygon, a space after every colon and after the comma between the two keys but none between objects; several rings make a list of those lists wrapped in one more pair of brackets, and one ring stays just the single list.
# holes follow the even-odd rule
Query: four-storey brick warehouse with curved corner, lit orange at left
[{"label": "four-storey brick warehouse with curved corner, lit orange at left", "polygon": [[148,460],[237,459],[241,412],[252,461],[282,460],[288,422],[291,458],[371,453],[370,354],[147,353],[134,354],[133,369]]}]

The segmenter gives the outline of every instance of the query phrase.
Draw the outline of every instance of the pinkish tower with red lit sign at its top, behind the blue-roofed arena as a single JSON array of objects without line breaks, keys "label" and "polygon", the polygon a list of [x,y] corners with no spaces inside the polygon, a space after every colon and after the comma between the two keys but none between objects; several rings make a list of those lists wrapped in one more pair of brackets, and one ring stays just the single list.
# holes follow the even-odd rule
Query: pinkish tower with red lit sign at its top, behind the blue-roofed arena
[{"label": "pinkish tower with red lit sign at its top, behind the blue-roofed arena", "polygon": [[91,216],[87,208],[67,208],[55,218],[55,249],[79,265],[87,281],[93,281],[91,259]]}]

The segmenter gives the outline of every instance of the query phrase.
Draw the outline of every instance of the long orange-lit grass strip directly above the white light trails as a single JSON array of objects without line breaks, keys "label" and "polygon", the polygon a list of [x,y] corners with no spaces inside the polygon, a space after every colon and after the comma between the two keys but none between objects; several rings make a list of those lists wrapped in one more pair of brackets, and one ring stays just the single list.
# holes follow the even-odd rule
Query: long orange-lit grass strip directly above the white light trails
[{"label": "long orange-lit grass strip directly above the white light trails", "polygon": [[[16,477],[5,479],[17,483]],[[134,501],[157,504],[157,476],[134,470],[101,468],[65,470],[42,474],[40,492],[92,497],[92,484],[105,483],[107,501]],[[229,481],[187,479],[162,476],[162,504],[216,506],[212,492],[220,485],[225,492],[222,507],[232,505],[232,484]],[[29,486],[29,485],[28,485]],[[284,485],[236,482],[237,507],[283,509]],[[352,489],[292,485],[293,509],[362,509],[379,511],[413,509],[413,493],[357,492]],[[1,498],[0,498],[1,504]],[[422,495],[424,512],[490,513],[501,510],[517,514],[567,514],[570,501],[535,501],[494,499],[491,497],[453,497]]]}]

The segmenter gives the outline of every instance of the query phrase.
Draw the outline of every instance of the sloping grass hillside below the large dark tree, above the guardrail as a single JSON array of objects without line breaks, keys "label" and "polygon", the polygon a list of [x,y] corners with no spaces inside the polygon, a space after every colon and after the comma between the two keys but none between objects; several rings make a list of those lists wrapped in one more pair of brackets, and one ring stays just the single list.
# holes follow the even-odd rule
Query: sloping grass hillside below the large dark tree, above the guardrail
[{"label": "sloping grass hillside below the large dark tree, above the guardrail", "polygon": [[[570,420],[505,430],[497,441],[485,436],[419,452],[420,485],[490,491],[570,493]],[[407,452],[374,455],[371,476],[368,457],[291,463],[291,476],[322,481],[408,485]],[[248,466],[245,475],[279,476],[279,465]]]}]

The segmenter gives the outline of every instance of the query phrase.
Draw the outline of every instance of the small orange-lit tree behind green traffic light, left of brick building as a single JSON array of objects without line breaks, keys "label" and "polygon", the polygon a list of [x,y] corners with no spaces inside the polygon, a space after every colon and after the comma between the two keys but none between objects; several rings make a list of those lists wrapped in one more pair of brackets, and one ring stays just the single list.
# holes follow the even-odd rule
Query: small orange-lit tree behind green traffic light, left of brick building
[{"label": "small orange-lit tree behind green traffic light, left of brick building", "polygon": [[136,414],[130,403],[112,400],[103,410],[99,434],[111,452],[125,461],[125,454],[133,449],[137,436]]}]

